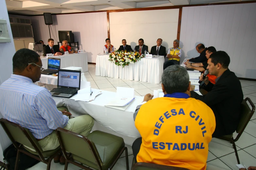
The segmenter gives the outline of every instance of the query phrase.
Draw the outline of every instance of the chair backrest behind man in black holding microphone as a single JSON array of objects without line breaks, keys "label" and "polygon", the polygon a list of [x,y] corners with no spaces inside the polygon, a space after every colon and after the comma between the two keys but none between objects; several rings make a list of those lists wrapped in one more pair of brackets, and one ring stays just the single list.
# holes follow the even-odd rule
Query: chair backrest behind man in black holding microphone
[{"label": "chair backrest behind man in black holding microphone", "polygon": [[[250,103],[250,105],[252,107],[251,109],[248,106],[247,101]],[[236,128],[236,132],[238,133],[238,135],[237,135],[235,141],[238,140],[239,137],[244,132],[244,130],[245,130],[248,122],[250,121],[254,111],[255,111],[255,106],[252,103],[251,99],[247,97],[241,103],[240,121],[239,121],[238,126]]]}]

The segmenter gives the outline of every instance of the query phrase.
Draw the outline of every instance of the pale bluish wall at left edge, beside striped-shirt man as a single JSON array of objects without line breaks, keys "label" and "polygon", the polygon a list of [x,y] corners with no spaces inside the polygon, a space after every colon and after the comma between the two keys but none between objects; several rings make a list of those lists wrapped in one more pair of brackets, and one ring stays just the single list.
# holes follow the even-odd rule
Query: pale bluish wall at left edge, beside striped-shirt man
[{"label": "pale bluish wall at left edge, beside striped-shirt man", "polygon": [[[5,0],[0,0],[0,18],[5,19],[7,21],[7,26],[9,30],[9,35],[11,38],[10,43],[0,43],[0,85],[10,78],[12,74],[12,57],[15,53],[14,42],[11,34],[11,26],[8,18],[8,12],[6,8]],[[0,118],[3,118],[0,113]],[[3,150],[6,149],[11,144],[8,136],[3,130],[2,126],[0,126],[0,161],[3,162]]]}]

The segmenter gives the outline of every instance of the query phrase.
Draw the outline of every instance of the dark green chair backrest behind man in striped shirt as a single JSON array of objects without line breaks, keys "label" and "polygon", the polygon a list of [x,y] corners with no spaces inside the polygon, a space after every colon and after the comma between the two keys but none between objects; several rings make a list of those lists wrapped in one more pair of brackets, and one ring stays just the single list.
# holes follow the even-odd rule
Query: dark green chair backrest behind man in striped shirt
[{"label": "dark green chair backrest behind man in striped shirt", "polygon": [[17,149],[18,145],[16,144],[16,142],[29,148],[35,149],[38,153],[41,153],[43,151],[36,138],[27,128],[22,127],[21,125],[6,120],[4,118],[0,119],[0,123],[4,128],[6,134],[9,136],[10,140],[12,141],[13,145]]}]

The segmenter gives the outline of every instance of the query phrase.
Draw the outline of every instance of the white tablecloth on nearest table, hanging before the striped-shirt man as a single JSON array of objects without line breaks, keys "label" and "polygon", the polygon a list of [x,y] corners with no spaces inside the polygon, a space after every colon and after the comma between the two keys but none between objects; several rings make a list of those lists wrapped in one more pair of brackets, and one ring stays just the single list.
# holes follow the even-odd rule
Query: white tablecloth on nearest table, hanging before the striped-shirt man
[{"label": "white tablecloth on nearest table, hanging before the striped-shirt man", "polygon": [[116,95],[116,92],[101,92],[102,94],[98,95],[95,100],[91,102],[81,102],[54,96],[53,99],[59,106],[60,103],[63,102],[63,106],[68,108],[72,113],[72,116],[77,117],[89,114],[97,122],[95,125],[100,124],[106,128],[106,130],[104,130],[94,127],[94,130],[98,129],[114,135],[119,135],[124,138],[125,143],[132,145],[133,141],[140,137],[140,134],[134,125],[133,113],[136,107],[143,101],[143,97],[135,96],[135,100],[130,106],[128,106],[125,111],[122,111],[105,106],[109,100],[111,100],[110,98]]}]

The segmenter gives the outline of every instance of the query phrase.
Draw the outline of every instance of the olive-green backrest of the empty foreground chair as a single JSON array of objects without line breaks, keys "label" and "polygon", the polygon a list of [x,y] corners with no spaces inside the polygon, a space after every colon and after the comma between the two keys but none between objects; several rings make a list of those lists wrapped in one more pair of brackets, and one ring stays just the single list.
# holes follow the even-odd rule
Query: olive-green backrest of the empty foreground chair
[{"label": "olive-green backrest of the empty foreground chair", "polygon": [[96,149],[95,144],[87,137],[63,128],[57,128],[56,133],[60,142],[60,147],[66,159],[69,159],[66,153],[69,152],[72,153],[75,161],[80,162],[80,160],[76,160],[76,157],[78,156],[85,160],[83,164],[101,169],[103,163],[98,150]]}]

